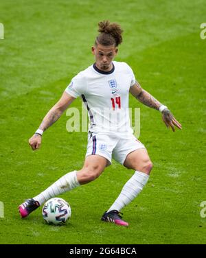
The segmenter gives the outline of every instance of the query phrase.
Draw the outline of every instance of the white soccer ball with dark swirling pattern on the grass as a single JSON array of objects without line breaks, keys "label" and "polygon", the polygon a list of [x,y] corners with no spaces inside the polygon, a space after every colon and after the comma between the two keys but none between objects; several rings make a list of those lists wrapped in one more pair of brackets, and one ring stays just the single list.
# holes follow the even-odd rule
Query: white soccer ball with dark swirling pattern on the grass
[{"label": "white soccer ball with dark swirling pattern on the grass", "polygon": [[42,215],[48,224],[64,224],[71,217],[71,207],[62,198],[52,198],[45,202]]}]

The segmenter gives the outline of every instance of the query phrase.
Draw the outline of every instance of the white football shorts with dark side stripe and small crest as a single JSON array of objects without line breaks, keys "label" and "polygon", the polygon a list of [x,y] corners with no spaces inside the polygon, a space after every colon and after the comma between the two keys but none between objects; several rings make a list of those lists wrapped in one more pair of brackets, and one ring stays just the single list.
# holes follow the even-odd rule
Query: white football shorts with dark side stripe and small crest
[{"label": "white football shorts with dark side stripe and small crest", "polygon": [[109,161],[108,165],[111,164],[113,158],[123,165],[126,156],[140,148],[146,149],[132,133],[89,132],[86,156],[104,156]]}]

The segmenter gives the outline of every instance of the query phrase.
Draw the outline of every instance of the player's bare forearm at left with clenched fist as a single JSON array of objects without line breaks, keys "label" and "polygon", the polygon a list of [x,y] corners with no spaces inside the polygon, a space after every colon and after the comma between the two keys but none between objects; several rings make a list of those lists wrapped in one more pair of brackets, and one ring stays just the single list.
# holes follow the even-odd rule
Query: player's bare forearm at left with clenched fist
[{"label": "player's bare forearm at left with clenched fist", "polygon": [[[47,130],[49,126],[52,126],[56,120],[62,115],[62,113],[65,111],[65,109],[73,102],[75,97],[72,97],[69,95],[69,93],[64,92],[62,94],[62,97],[60,97],[59,101],[49,110],[47,115],[43,118],[43,121],[41,122],[41,125],[38,129],[41,129],[43,131]],[[41,145],[41,138],[42,136],[40,134],[34,134],[30,139],[29,143],[32,147],[32,150],[37,150],[40,148]]]}]

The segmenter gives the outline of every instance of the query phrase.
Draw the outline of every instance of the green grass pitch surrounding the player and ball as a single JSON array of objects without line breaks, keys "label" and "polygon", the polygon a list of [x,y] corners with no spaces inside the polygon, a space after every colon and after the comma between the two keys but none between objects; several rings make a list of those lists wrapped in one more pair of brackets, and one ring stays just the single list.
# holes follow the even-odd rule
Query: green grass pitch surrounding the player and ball
[{"label": "green grass pitch surrounding the player and ball", "polygon": [[[206,39],[205,2],[1,1],[0,218],[1,244],[204,244]],[[67,132],[66,113],[33,152],[28,139],[71,78],[93,63],[98,21],[124,29],[116,60],[128,62],[141,86],[169,106],[183,130],[167,130],[161,115],[141,108],[142,141],[154,169],[141,194],[123,210],[128,228],[100,221],[133,174],[113,161],[89,185],[60,196],[71,204],[65,226],[48,226],[41,209],[21,220],[17,207],[63,174],[80,169],[86,132]],[[81,106],[77,99],[71,106]],[[2,209],[1,209],[2,213]],[[1,214],[1,217],[2,214]]]}]

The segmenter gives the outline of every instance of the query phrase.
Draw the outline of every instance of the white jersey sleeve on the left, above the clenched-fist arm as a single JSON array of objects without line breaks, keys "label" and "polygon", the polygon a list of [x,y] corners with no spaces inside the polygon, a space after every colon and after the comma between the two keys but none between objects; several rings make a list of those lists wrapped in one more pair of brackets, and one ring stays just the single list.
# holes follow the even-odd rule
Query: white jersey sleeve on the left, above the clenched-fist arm
[{"label": "white jersey sleeve on the left, above the clenched-fist arm", "polygon": [[82,73],[78,73],[78,75],[73,77],[65,91],[72,97],[79,97],[80,95],[84,94],[86,88],[85,83],[86,81]]}]

